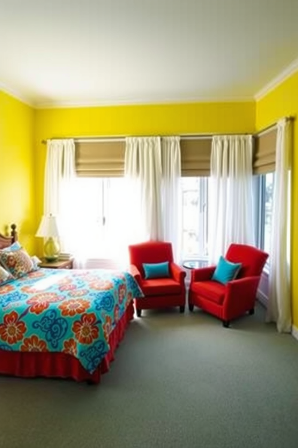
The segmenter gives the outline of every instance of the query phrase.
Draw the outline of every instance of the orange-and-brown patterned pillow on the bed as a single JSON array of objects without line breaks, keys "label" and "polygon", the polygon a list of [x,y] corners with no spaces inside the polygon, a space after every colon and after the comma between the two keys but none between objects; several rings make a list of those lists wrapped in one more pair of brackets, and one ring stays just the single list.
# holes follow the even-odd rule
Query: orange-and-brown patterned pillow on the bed
[{"label": "orange-and-brown patterned pillow on the bed", "polygon": [[35,266],[25,249],[0,250],[0,263],[14,277],[22,277],[35,270]]}]

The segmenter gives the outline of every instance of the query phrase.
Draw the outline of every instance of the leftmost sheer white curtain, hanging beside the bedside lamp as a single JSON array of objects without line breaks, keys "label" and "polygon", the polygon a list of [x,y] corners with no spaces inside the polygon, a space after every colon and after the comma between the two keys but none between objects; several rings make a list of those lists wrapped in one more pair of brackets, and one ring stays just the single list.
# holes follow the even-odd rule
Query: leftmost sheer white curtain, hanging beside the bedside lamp
[{"label": "leftmost sheer white curtain, hanging beside the bedside lamp", "polygon": [[62,250],[70,250],[73,214],[76,210],[73,183],[76,177],[73,139],[48,140],[46,150],[44,215],[55,215]]}]

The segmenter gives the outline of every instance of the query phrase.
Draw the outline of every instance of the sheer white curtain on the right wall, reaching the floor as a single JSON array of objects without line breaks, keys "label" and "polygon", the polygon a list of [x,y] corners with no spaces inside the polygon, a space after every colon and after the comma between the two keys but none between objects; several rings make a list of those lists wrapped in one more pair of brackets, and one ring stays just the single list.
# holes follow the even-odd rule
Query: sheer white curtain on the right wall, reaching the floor
[{"label": "sheer white curtain on the right wall, reaching the floor", "polygon": [[278,332],[291,332],[290,297],[290,155],[291,121],[277,123],[276,161],[266,320],[276,322]]}]

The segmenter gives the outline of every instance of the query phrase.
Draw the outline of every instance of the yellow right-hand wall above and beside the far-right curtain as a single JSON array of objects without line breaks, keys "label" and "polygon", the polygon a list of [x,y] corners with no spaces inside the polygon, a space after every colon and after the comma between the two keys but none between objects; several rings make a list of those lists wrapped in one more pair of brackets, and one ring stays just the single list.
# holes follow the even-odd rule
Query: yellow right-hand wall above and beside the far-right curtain
[{"label": "yellow right-hand wall above and beside the far-right curtain", "polygon": [[256,102],[256,129],[276,122],[284,116],[294,116],[294,151],[292,164],[292,304],[293,323],[298,327],[298,72],[286,79],[264,98]]}]

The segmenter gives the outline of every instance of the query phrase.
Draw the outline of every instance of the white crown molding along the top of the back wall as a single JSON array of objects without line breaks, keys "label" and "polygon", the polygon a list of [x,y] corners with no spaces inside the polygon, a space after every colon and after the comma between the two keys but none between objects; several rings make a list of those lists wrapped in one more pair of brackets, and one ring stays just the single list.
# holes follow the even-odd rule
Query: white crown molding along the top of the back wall
[{"label": "white crown molding along the top of the back wall", "polygon": [[59,108],[90,108],[90,107],[109,107],[109,106],[149,106],[149,105],[167,105],[167,104],[188,104],[188,103],[253,103],[255,100],[253,96],[243,97],[197,97],[197,98],[176,98],[176,99],[162,99],[155,98],[152,100],[135,99],[122,101],[53,101],[49,103],[35,103],[36,109],[59,109]]}]

